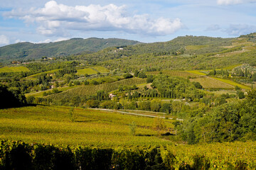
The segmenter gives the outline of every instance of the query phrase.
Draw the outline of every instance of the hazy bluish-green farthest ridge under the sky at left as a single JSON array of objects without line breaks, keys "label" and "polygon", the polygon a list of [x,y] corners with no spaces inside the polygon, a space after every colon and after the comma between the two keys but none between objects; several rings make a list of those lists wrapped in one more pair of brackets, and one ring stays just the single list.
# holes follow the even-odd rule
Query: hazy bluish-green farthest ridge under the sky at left
[{"label": "hazy bluish-green farthest ridge under the sky at left", "polygon": [[12,60],[37,60],[41,57],[58,57],[82,53],[97,52],[106,47],[135,45],[141,42],[117,38],[73,38],[60,42],[33,44],[19,42],[0,47],[0,62]]}]

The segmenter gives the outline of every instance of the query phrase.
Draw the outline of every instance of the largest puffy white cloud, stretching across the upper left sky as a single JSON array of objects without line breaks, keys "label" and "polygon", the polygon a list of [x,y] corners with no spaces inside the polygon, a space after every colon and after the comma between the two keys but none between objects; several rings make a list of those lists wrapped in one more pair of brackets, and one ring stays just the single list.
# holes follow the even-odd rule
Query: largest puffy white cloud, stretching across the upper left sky
[{"label": "largest puffy white cloud, stretching across the upper left sky", "polygon": [[69,30],[111,31],[143,35],[169,35],[183,28],[179,18],[150,18],[149,15],[129,16],[126,6],[66,6],[48,1],[43,8],[13,9],[4,13],[9,18],[20,18],[26,23],[37,23],[42,35],[70,36]]}]

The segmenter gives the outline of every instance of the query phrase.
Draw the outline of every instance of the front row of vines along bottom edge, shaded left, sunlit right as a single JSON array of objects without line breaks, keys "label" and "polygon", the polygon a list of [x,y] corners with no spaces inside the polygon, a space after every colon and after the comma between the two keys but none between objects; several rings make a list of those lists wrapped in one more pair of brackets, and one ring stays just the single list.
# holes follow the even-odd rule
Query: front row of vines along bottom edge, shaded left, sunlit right
[{"label": "front row of vines along bottom edge, shaded left, sunlit right", "polygon": [[[239,146],[239,147],[237,147]],[[255,142],[167,147],[60,147],[0,142],[0,169],[255,169]]]}]

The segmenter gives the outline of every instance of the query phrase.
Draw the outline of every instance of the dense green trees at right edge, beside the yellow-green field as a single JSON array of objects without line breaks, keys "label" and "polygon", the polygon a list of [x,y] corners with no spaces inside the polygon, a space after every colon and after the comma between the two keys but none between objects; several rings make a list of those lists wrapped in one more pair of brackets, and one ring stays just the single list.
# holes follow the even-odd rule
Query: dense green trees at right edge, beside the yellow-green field
[{"label": "dense green trees at right edge, beside the yellow-green field", "polygon": [[255,113],[254,89],[243,101],[224,103],[205,115],[197,114],[183,123],[177,122],[176,130],[189,144],[256,140]]}]

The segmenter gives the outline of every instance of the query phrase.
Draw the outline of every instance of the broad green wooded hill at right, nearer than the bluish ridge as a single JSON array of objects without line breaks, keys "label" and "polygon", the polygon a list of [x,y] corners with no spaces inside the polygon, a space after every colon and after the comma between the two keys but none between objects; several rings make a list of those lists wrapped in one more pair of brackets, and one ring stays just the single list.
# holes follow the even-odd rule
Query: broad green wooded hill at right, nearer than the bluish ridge
[{"label": "broad green wooded hill at right, nearer than the bluish ridge", "polygon": [[210,38],[187,35],[168,42],[107,47],[93,54],[74,55],[73,60],[103,64],[107,69],[156,71],[162,69],[220,69],[235,64],[256,66],[256,35]]}]

